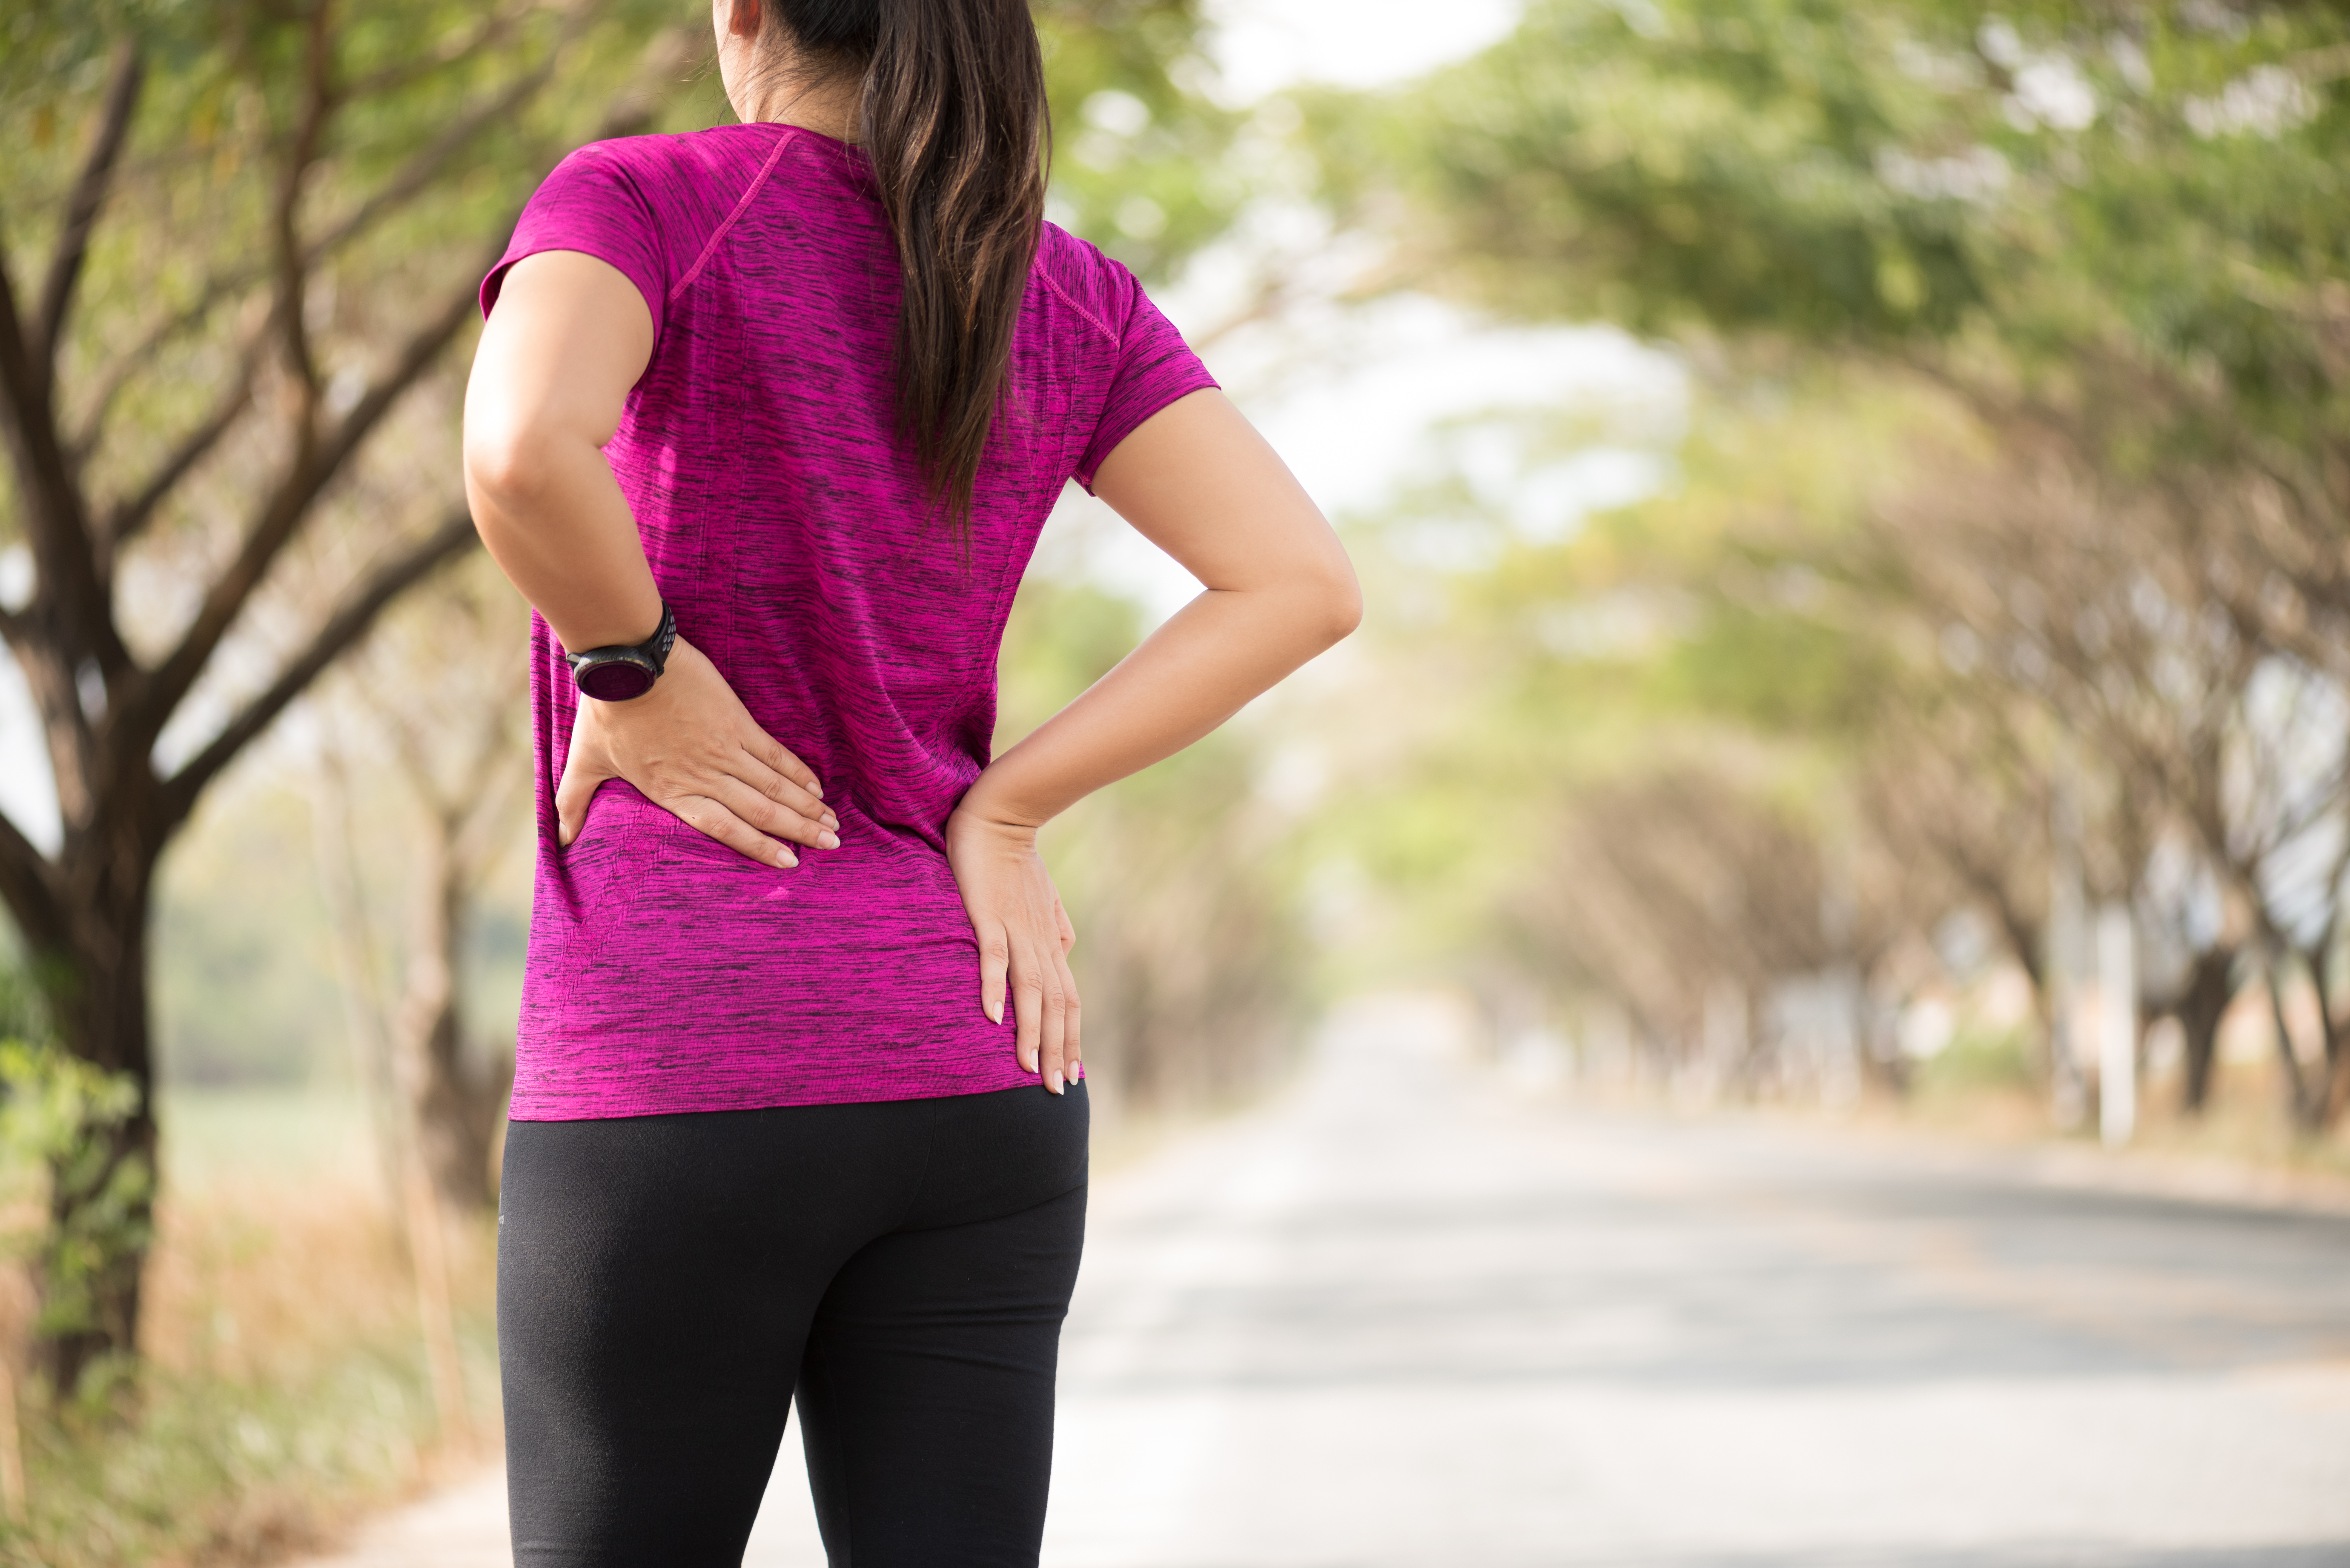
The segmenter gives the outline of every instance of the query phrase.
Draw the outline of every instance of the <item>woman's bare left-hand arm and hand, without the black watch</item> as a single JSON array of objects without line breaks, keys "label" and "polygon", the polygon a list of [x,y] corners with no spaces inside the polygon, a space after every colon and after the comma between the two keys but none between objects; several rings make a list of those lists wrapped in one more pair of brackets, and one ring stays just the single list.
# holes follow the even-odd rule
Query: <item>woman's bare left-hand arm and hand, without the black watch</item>
[{"label": "woman's bare left-hand arm and hand, without the black watch", "polygon": [[[472,357],[465,498],[475,527],[571,651],[644,642],[660,623],[637,520],[604,463],[651,355],[653,315],[625,273],[580,252],[540,252],[508,270]],[[580,693],[555,790],[564,844],[606,778],[625,778],[766,865],[797,863],[776,839],[839,844],[815,773],[752,722],[684,637],[644,696],[599,703]]]}]

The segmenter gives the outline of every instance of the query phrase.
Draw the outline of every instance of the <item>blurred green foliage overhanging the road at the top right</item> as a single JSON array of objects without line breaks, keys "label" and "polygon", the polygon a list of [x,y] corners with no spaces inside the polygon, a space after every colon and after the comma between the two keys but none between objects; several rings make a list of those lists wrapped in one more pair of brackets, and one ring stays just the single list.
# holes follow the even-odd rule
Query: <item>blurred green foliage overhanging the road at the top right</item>
[{"label": "blurred green foliage overhanging the road at the top right", "polygon": [[2054,395],[2129,353],[2225,390],[2136,409],[2143,461],[2338,440],[2345,47],[2329,7],[1549,0],[1354,110],[1332,190],[1398,186],[1504,306],[1995,348]]}]

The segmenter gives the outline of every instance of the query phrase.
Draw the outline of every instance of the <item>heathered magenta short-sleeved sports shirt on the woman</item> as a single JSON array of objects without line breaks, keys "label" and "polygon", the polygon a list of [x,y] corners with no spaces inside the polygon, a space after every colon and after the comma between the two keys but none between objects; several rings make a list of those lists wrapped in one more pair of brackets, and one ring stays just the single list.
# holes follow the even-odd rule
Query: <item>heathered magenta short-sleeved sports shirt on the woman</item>
[{"label": "heathered magenta short-sleeved sports shirt on the woman", "polygon": [[841,846],[761,867],[620,780],[555,844],[573,689],[531,625],[538,886],[512,1114],[576,1121],[1036,1084],[980,1011],[945,825],[987,764],[996,644],[1069,477],[1215,386],[1133,275],[1043,228],[968,557],[893,435],[898,259],[865,158],[778,125],[580,148],[508,266],[609,261],[653,360],[604,456],[677,611],[799,752]]}]

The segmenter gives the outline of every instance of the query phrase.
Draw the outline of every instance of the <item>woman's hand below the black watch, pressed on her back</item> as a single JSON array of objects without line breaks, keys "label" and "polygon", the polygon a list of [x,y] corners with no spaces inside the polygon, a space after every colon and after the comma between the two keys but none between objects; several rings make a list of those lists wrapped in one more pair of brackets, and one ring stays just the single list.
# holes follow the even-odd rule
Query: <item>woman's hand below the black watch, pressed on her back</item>
[{"label": "woman's hand below the black watch, pressed on her back", "polygon": [[719,668],[684,637],[644,696],[599,703],[580,693],[571,752],[555,785],[562,844],[580,837],[588,802],[606,778],[625,778],[649,802],[759,865],[799,865],[790,844],[841,844],[841,818],[825,806],[808,764],[752,722]]}]

